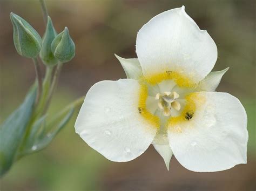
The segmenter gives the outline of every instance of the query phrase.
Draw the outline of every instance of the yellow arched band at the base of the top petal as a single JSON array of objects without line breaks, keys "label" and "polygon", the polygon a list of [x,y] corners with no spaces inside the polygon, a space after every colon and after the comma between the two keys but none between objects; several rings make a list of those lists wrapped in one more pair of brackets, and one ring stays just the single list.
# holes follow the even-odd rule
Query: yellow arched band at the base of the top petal
[{"label": "yellow arched band at the base of the top petal", "polygon": [[191,78],[185,77],[184,74],[170,70],[166,70],[164,73],[157,73],[146,77],[144,76],[143,78],[143,80],[150,85],[156,85],[163,80],[171,79],[180,87],[194,87],[197,85],[193,80],[191,80]]}]

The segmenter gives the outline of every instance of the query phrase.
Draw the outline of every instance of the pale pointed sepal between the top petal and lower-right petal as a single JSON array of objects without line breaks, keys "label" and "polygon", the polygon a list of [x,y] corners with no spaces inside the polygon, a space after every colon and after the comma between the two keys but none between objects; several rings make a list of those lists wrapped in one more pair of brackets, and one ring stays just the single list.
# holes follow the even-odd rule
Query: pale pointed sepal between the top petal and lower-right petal
[{"label": "pale pointed sepal between the top petal and lower-right petal", "polygon": [[198,90],[207,92],[215,91],[220,83],[221,78],[229,68],[230,67],[227,67],[226,69],[221,71],[210,72],[205,79],[200,81]]}]

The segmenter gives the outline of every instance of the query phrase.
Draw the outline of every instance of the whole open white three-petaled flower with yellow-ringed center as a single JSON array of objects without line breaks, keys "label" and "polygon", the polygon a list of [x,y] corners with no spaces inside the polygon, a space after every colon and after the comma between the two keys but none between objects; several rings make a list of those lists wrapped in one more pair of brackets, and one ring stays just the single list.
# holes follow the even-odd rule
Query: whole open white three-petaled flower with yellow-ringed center
[{"label": "whole open white three-petaled flower with yellow-ringed center", "polygon": [[152,144],[167,169],[214,172],[246,163],[247,117],[240,101],[215,92],[228,70],[211,72],[217,47],[184,6],[139,30],[137,58],[119,59],[129,79],[100,81],[86,95],[75,128],[107,159],[130,161]]}]

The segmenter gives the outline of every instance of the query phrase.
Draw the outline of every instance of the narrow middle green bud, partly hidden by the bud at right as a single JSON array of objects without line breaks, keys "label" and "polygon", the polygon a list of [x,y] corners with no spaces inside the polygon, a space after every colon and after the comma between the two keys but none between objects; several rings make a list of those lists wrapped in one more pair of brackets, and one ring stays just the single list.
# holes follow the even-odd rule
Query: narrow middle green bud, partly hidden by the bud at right
[{"label": "narrow middle green bud, partly hidden by the bud at right", "polygon": [[53,66],[58,63],[58,60],[54,57],[51,51],[51,43],[56,36],[57,32],[52,24],[51,18],[48,16],[48,22],[43,36],[42,49],[40,51],[40,57],[45,65]]}]

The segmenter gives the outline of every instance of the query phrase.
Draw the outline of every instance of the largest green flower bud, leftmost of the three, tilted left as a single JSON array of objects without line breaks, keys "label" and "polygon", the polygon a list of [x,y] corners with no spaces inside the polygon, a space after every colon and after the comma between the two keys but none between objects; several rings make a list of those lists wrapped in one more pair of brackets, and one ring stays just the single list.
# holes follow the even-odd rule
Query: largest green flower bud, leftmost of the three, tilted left
[{"label": "largest green flower bud, leftmost of the three, tilted left", "polygon": [[42,39],[32,26],[15,13],[10,13],[14,26],[14,45],[19,54],[28,58],[37,57],[41,50]]}]

